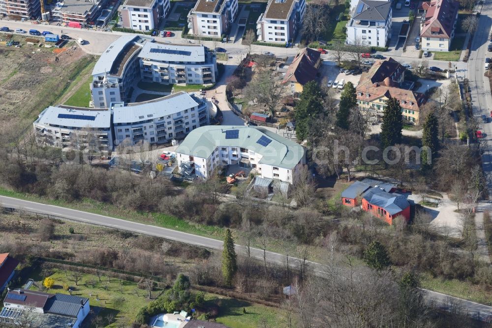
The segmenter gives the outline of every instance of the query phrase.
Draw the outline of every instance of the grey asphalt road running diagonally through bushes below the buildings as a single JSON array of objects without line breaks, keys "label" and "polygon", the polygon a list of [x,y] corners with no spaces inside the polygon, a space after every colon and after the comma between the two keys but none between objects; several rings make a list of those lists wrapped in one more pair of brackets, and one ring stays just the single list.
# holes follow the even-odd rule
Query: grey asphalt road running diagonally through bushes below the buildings
[{"label": "grey asphalt road running diagonally through bushes below the buildings", "polygon": [[[21,209],[24,211],[31,211],[41,214],[49,214],[58,218],[64,218],[67,220],[84,222],[109,228],[122,229],[133,231],[137,233],[143,233],[147,235],[162,237],[165,239],[176,240],[186,244],[192,244],[197,246],[203,246],[211,249],[220,250],[222,248],[222,241],[212,238],[197,236],[190,233],[175,231],[171,229],[159,228],[151,225],[145,225],[136,222],[125,221],[116,219],[104,215],[92,214],[79,210],[64,208],[60,206],[41,204],[33,201],[22,200],[12,197],[0,196],[0,204],[3,207]],[[241,254],[246,253],[244,246],[236,245],[236,251]],[[251,256],[259,261],[263,261],[263,251],[260,249],[252,248]],[[285,265],[285,255],[266,252],[266,259],[269,263],[276,263]],[[289,264],[292,267],[297,267],[299,259],[289,257]],[[307,266],[313,270],[317,275],[322,276],[326,272],[326,266],[320,263],[308,262]],[[443,309],[450,309],[450,304],[458,304],[462,310],[464,310],[471,317],[488,320],[492,318],[492,307],[484,304],[475,303],[465,299],[452,297],[449,295],[436,293],[428,290],[424,290],[426,298],[432,301],[437,306]]]}]

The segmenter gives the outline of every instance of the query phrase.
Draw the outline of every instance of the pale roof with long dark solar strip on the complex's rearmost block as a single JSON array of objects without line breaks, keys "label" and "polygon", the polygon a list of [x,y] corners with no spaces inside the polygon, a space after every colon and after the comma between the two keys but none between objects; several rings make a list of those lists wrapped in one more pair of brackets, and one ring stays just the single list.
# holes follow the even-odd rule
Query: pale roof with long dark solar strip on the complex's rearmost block
[{"label": "pale roof with long dark solar strip on the complex's rearmost block", "polygon": [[139,58],[147,58],[165,62],[205,62],[205,46],[201,44],[167,44],[147,42]]}]

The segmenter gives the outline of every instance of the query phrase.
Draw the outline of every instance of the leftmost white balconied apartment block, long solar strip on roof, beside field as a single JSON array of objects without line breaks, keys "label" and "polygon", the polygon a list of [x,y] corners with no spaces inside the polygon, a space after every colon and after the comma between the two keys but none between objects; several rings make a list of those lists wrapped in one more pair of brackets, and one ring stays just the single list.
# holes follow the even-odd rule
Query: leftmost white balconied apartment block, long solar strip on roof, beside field
[{"label": "leftmost white balconied apartment block, long solar strip on roof, beside field", "polygon": [[39,114],[33,127],[36,139],[52,147],[101,152],[113,148],[111,112],[107,109],[50,106]]}]

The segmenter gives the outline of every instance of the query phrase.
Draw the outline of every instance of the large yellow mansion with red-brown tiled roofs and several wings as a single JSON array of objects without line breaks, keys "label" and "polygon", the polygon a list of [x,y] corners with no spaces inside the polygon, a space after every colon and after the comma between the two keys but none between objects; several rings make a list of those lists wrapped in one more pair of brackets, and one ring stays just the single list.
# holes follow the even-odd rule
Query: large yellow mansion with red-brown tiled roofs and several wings
[{"label": "large yellow mansion with red-brown tiled roofs and several wings", "polygon": [[408,123],[418,123],[420,108],[426,96],[420,92],[401,88],[405,67],[392,58],[376,61],[363,73],[356,88],[357,103],[361,108],[371,109],[382,115],[388,99],[395,98],[400,103],[402,119]]}]

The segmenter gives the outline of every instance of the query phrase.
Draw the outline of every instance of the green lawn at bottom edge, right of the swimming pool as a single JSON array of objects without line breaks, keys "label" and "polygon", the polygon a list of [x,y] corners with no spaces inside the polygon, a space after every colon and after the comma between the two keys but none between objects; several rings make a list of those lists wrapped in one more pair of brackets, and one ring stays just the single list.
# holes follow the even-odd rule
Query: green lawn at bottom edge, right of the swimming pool
[{"label": "green lawn at bottom edge, right of the swimming pool", "polygon": [[[264,322],[267,323],[266,327],[282,327],[279,322],[284,311],[278,308],[215,294],[206,294],[205,300],[209,306],[212,304],[219,306],[219,315],[215,321],[227,327],[263,327]],[[243,308],[246,309],[246,314],[243,313]]]}]

